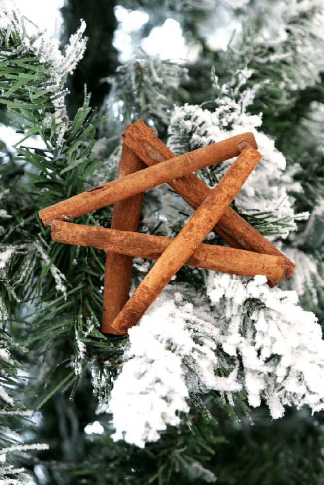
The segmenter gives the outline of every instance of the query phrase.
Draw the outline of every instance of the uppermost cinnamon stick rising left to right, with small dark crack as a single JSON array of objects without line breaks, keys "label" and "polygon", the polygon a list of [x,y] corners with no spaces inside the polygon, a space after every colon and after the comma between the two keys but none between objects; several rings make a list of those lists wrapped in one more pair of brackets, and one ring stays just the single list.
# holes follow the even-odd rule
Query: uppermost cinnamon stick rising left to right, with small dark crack
[{"label": "uppermost cinnamon stick rising left to right, with small dark crack", "polygon": [[[39,217],[45,226],[51,226],[54,219],[66,221],[87,214],[161,183],[170,182],[173,178],[183,177],[208,165],[237,157],[239,155],[238,145],[244,141],[257,148],[253,134],[243,133],[164,162],[158,157],[158,154],[152,152],[154,159],[162,162],[158,166],[145,168],[145,170],[93,187],[86,192],[45,207],[38,212]],[[128,144],[126,145],[128,146]],[[138,156],[137,153],[136,155]],[[143,159],[141,158],[141,160]]]}]

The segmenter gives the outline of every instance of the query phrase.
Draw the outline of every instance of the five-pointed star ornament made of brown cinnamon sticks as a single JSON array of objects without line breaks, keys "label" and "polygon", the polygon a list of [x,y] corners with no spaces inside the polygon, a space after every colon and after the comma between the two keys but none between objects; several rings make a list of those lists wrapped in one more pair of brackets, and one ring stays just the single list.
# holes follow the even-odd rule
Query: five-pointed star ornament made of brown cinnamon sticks
[{"label": "five-pointed star ornament made of brown cinnamon sticks", "polygon": [[[229,207],[261,159],[253,133],[178,157],[140,119],[128,125],[121,138],[116,180],[39,211],[44,225],[51,226],[53,241],[107,251],[102,332],[127,334],[184,264],[266,275],[270,286],[292,274],[295,264]],[[214,189],[193,173],[234,157]],[[174,239],[137,232],[144,191],[165,182],[195,210]],[[68,222],[109,204],[114,204],[110,229]],[[213,229],[230,247],[203,243]],[[129,298],[133,257],[156,262]]]}]

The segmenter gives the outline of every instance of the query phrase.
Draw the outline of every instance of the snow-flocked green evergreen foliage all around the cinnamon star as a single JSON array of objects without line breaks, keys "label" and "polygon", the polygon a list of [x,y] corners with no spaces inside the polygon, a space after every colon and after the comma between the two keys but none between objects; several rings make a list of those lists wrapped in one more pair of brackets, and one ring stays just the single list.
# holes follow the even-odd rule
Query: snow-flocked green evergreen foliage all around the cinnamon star
[{"label": "snow-flocked green evergreen foliage all around the cinnamon star", "polygon": [[[181,65],[139,51],[109,94],[115,2],[66,2],[64,54],[0,5],[0,119],[21,136],[0,145],[0,483],[324,484],[321,1],[228,0],[243,26],[221,51],[202,28],[221,2],[128,0],[149,13],[143,35],[171,15],[201,49]],[[270,291],[184,267],[129,338],[102,335],[103,252],[51,242],[38,210],[115,178],[137,117],[176,153],[252,130],[264,158],[232,207],[299,272]],[[214,186],[227,166],[199,176]],[[167,236],[192,213],[164,186],[143,207],[139,230]],[[135,259],[133,289],[151,264]],[[289,409],[271,421],[265,403]],[[158,425],[147,412],[141,428],[145,405]]]}]

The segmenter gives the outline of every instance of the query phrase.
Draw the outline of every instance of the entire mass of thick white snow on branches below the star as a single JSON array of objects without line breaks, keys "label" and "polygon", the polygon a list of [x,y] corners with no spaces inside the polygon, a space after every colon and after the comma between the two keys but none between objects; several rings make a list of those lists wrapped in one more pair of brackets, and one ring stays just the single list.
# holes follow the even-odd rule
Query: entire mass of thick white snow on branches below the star
[{"label": "entire mass of thick white snow on branches below the star", "polygon": [[170,299],[171,285],[129,330],[125,362],[109,403],[115,440],[143,447],[188,412],[190,394],[239,390],[252,407],[263,397],[273,419],[285,405],[324,409],[324,341],[295,291],[270,289],[265,276],[208,272],[201,308]]}]

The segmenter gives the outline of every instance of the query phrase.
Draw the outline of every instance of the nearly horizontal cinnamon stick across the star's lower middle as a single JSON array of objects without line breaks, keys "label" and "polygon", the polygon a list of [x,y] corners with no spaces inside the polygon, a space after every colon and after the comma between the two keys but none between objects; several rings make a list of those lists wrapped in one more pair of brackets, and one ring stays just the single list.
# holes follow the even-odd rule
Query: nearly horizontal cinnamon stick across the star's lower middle
[{"label": "nearly horizontal cinnamon stick across the star's lower middle", "polygon": [[[147,259],[158,259],[173,241],[172,238],[164,236],[64,221],[53,221],[51,235],[52,240],[56,242],[92,246],[113,251],[109,254],[120,253],[120,255]],[[280,256],[204,243],[197,247],[185,264],[242,276],[265,275],[272,281],[280,281],[285,271],[285,262]]]}]

